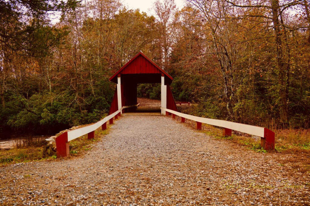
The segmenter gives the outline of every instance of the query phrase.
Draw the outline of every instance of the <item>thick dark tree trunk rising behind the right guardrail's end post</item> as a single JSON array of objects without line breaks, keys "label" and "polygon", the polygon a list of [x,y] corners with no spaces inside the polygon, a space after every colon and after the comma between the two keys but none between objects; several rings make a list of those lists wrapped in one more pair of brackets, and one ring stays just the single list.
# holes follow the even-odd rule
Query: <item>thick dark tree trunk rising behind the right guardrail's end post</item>
[{"label": "thick dark tree trunk rising behind the right guardrail's end post", "polygon": [[272,8],[272,23],[275,30],[275,41],[277,44],[277,69],[279,81],[279,96],[280,96],[280,120],[281,122],[288,123],[288,94],[287,94],[287,68],[284,61],[282,49],[282,36],[283,33],[280,28],[279,21],[279,1],[271,0]]}]

